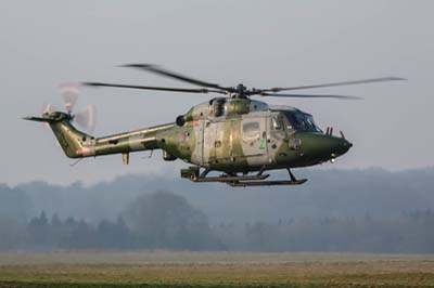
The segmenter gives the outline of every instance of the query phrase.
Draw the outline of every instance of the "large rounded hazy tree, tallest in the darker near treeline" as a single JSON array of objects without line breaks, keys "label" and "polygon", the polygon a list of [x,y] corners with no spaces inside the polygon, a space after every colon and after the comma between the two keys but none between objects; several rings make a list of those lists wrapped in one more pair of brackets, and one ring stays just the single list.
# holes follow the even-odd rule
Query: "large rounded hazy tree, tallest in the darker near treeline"
[{"label": "large rounded hazy tree, tallest in the darker near treeline", "polygon": [[139,196],[124,214],[142,247],[188,250],[221,247],[207,217],[179,195],[157,192]]}]

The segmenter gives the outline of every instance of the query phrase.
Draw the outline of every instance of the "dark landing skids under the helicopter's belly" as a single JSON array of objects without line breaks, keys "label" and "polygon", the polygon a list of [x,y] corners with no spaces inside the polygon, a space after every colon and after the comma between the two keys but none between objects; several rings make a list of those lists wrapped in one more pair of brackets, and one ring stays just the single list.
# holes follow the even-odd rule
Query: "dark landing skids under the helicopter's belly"
[{"label": "dark landing skids under the helicopter's belly", "polygon": [[189,169],[181,170],[181,178],[187,178],[195,183],[203,182],[220,182],[226,183],[232,187],[247,187],[247,186],[277,186],[277,185],[301,185],[307,181],[307,179],[295,179],[294,174],[288,169],[291,180],[276,180],[276,181],[264,181],[269,178],[270,174],[263,174],[264,169],[260,170],[256,175],[242,175],[237,174],[224,174],[220,176],[206,176],[210,170],[205,170],[200,174],[199,167],[190,167]]}]

